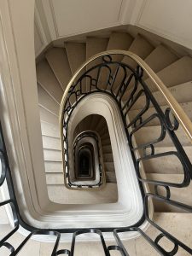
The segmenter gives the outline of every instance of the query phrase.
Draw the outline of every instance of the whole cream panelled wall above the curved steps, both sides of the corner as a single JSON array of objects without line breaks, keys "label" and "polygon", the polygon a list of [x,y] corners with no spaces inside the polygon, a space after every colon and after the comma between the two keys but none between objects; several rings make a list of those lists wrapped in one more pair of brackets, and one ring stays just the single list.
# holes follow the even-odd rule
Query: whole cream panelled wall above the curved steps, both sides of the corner
[{"label": "whole cream panelled wall above the curved steps, both sides of the corner", "polygon": [[192,49],[191,0],[36,0],[36,55],[50,41],[135,25]]}]

